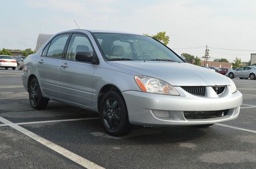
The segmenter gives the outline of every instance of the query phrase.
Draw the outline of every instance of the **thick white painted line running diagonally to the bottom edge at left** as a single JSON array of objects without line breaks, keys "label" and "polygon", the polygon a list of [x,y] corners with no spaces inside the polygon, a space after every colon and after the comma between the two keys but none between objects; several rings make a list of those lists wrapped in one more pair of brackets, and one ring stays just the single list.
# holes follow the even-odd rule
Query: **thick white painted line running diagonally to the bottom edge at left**
[{"label": "thick white painted line running diagonally to the bottom edge at left", "polygon": [[93,163],[92,161],[89,161],[89,160],[87,160],[87,159],[85,159],[85,158],[83,158],[83,157],[65,149],[65,148],[62,148],[62,147],[50,142],[49,140],[47,140],[47,139],[45,139],[45,138],[43,138],[43,137],[41,137],[41,136],[39,136],[35,133],[23,128],[23,127],[20,127],[17,124],[14,124],[14,123],[12,123],[12,122],[10,122],[10,121],[2,118],[2,117],[0,117],[0,122],[2,122],[4,124],[8,124],[8,126],[12,127],[13,129],[29,136],[30,138],[36,140],[40,144],[42,144],[42,145],[52,149],[53,151],[69,158],[70,160],[76,162],[77,164],[79,164],[83,167],[86,167],[86,168],[103,168],[103,167]]}]

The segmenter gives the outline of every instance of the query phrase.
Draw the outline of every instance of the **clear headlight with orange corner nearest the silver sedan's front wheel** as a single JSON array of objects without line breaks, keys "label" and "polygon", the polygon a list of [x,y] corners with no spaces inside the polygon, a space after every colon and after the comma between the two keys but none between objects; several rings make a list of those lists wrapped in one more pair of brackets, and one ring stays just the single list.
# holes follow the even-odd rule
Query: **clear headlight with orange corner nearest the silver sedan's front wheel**
[{"label": "clear headlight with orange corner nearest the silver sedan's front wheel", "polygon": [[143,92],[176,96],[180,95],[172,85],[163,80],[142,75],[134,76],[134,78]]}]

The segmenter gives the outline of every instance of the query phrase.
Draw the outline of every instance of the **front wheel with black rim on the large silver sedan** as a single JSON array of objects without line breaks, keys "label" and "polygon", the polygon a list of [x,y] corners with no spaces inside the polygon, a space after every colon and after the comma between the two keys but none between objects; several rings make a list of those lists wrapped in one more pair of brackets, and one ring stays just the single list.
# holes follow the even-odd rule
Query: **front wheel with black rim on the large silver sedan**
[{"label": "front wheel with black rim on the large silver sedan", "polygon": [[102,98],[100,118],[109,135],[125,135],[132,129],[125,101],[116,91],[109,91]]}]

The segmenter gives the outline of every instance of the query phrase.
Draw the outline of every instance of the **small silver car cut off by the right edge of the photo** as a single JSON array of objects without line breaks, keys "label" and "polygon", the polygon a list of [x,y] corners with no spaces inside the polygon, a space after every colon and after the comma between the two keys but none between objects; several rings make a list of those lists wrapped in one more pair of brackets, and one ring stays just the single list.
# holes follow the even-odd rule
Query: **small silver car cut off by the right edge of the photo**
[{"label": "small silver car cut off by the right edge of the photo", "polygon": [[229,78],[234,78],[234,77],[240,77],[241,79],[256,79],[256,67],[253,66],[244,66],[241,68],[238,68],[236,70],[229,69],[228,72],[226,73],[226,76]]}]

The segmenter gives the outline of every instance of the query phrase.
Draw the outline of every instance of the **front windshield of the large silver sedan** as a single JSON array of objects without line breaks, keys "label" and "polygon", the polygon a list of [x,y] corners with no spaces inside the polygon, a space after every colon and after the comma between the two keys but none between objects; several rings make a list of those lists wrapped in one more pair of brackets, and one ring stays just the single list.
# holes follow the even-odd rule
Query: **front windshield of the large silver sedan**
[{"label": "front windshield of the large silver sedan", "polygon": [[114,33],[94,33],[94,35],[104,57],[109,61],[183,62],[174,52],[151,37]]}]

